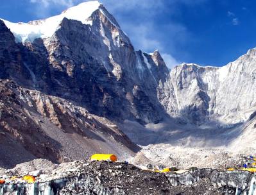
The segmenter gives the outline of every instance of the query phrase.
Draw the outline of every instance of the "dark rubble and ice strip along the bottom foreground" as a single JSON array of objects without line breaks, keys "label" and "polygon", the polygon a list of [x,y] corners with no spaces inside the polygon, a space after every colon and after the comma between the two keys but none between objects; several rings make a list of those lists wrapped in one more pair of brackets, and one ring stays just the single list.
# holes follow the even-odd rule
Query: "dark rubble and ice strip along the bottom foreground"
[{"label": "dark rubble and ice strip along the bottom foreground", "polygon": [[[35,183],[22,180],[27,174],[34,174]],[[256,176],[248,171],[210,168],[178,174],[142,170],[123,162],[75,161],[56,165],[34,160],[13,169],[1,169],[0,178],[5,180],[0,194],[253,194]]]}]

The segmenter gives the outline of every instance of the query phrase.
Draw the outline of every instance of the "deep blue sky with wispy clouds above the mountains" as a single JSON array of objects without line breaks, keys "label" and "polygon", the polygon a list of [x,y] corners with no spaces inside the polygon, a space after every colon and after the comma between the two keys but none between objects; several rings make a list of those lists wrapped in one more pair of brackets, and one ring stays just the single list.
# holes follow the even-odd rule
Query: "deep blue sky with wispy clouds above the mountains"
[{"label": "deep blue sky with wispy clouds above the mountains", "polygon": [[[28,22],[56,15],[80,0],[1,0],[0,17]],[[256,47],[253,0],[102,0],[135,49],[159,49],[180,62],[221,66]]]}]

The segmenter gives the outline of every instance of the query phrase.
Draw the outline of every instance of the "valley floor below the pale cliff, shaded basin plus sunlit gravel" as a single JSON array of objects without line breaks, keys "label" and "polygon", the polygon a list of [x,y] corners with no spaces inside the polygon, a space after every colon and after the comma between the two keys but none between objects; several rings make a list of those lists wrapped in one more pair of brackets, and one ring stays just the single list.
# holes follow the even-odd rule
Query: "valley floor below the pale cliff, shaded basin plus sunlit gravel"
[{"label": "valley floor below the pale cliff, shaded basin plus sunlit gravel", "polygon": [[146,126],[124,122],[121,129],[142,148],[130,159],[133,164],[226,169],[241,167],[246,158],[256,156],[254,120],[226,129],[170,122]]}]

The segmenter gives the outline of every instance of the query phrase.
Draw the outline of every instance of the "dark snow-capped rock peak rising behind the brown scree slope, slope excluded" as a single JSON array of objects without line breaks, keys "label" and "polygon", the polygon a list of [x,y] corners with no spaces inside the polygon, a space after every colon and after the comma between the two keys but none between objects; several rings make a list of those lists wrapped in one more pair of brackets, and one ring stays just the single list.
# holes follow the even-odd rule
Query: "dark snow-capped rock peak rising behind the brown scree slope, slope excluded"
[{"label": "dark snow-capped rock peak rising behind the brown scree slope, slope excluded", "polygon": [[[71,99],[112,119],[162,119],[157,86],[169,71],[160,53],[135,51],[98,1],[81,3],[44,21],[4,24],[16,42],[22,41],[24,86]],[[15,77],[12,70],[7,73]]]}]

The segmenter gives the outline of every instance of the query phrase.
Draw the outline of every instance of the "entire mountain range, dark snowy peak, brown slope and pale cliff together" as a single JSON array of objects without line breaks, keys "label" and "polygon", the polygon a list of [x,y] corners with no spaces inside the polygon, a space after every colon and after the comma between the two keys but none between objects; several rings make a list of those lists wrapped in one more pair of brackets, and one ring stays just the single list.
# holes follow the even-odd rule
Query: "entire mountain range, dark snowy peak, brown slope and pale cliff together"
[{"label": "entire mountain range, dark snowy peak, brown slope and pale cliff together", "polygon": [[[39,21],[0,20],[0,165],[96,152],[126,159],[136,144],[191,137],[205,144],[223,135],[225,145],[256,110],[255,51],[224,67],[169,71],[158,50],[135,51],[98,1]],[[147,130],[163,121],[163,129]],[[243,135],[234,132],[228,143]]]}]

